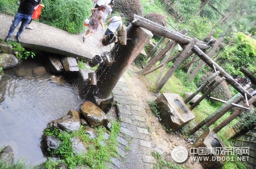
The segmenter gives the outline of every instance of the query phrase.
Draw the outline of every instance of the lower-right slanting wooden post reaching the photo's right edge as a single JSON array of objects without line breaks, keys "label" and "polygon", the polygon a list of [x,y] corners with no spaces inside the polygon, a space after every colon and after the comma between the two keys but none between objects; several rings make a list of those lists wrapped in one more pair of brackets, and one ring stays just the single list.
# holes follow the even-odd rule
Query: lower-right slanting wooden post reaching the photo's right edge
[{"label": "lower-right slanting wooden post reaching the photo's right edge", "polygon": [[[249,104],[253,104],[256,101],[256,96],[253,96],[248,102]],[[247,106],[245,103],[243,105],[244,107]],[[237,116],[239,116],[243,112],[242,108],[238,108],[234,113],[232,113],[228,118],[226,118],[224,121],[221,122],[217,127],[213,129],[215,133],[219,132],[223,127],[225,127],[227,124],[229,124],[232,120],[234,120]]]}]

